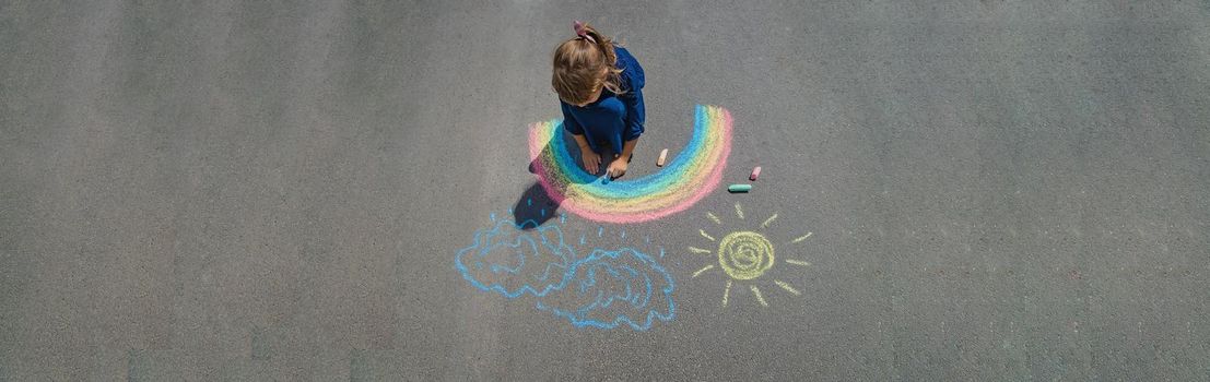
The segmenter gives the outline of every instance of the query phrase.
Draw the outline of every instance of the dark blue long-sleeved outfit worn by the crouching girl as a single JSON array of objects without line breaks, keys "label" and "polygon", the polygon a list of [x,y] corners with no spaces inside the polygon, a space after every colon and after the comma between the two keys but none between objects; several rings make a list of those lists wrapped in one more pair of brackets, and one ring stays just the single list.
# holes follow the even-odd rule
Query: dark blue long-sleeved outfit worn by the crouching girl
[{"label": "dark blue long-sleeved outfit worn by the crouching girl", "polygon": [[583,108],[559,100],[563,108],[563,127],[569,133],[584,135],[588,146],[597,154],[601,152],[600,141],[607,143],[613,152],[622,152],[622,143],[639,138],[643,134],[643,121],[646,111],[643,109],[643,66],[626,48],[615,46],[617,68],[622,69],[620,87],[622,96],[609,89],[601,89],[595,102]]}]

